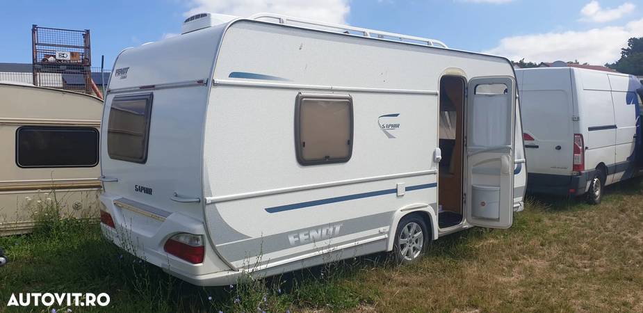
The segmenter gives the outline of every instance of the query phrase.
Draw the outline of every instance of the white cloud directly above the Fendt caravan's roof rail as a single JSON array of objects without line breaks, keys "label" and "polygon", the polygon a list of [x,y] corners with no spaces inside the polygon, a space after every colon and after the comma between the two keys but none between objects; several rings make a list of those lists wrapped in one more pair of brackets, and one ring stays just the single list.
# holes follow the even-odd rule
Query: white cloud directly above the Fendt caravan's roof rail
[{"label": "white cloud directly above the Fendt caravan's roof rail", "polygon": [[184,15],[211,12],[248,17],[255,13],[279,13],[323,22],[346,24],[349,0],[192,0]]}]

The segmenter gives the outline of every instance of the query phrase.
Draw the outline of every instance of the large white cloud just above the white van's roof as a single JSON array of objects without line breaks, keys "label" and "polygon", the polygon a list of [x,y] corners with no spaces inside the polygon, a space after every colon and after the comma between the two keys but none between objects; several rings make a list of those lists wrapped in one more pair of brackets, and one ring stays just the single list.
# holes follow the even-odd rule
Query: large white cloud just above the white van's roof
[{"label": "large white cloud just above the white van's roof", "polygon": [[612,63],[620,57],[621,47],[627,40],[643,35],[643,19],[624,26],[605,26],[589,31],[537,33],[503,38],[500,45],[484,51],[485,54],[506,56],[518,61],[533,62],[574,61],[594,65]]}]

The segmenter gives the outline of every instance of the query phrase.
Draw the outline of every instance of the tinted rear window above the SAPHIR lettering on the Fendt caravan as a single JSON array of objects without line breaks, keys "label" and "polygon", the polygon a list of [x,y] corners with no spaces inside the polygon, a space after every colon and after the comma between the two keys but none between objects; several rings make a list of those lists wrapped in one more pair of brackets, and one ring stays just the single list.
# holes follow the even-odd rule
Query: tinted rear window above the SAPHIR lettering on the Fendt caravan
[{"label": "tinted rear window above the SAPHIR lettering on the Fendt caravan", "polygon": [[107,153],[112,159],[145,163],[152,94],[114,98],[107,126]]}]

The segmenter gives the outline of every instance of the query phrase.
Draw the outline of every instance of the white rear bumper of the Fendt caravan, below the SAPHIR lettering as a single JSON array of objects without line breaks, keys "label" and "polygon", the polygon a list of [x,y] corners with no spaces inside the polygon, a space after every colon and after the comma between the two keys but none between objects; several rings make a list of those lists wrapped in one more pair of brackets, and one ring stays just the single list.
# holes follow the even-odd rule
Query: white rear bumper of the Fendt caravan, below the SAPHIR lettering
[{"label": "white rear bumper of the Fendt caravan, below the SAPHIR lettering", "polygon": [[[117,198],[120,197],[107,193],[100,196],[100,201],[104,204],[102,209],[111,214],[116,226],[114,229],[101,224],[101,232],[116,246],[162,268],[170,275],[199,286],[235,283],[241,275],[241,272],[231,270],[218,257],[207,239],[202,221],[177,212],[170,214],[164,220],[154,220],[143,214],[133,215],[137,213],[114,204]],[[163,249],[165,241],[170,236],[181,232],[201,234],[206,238],[204,240],[206,255],[203,263],[191,264],[165,252]]]}]

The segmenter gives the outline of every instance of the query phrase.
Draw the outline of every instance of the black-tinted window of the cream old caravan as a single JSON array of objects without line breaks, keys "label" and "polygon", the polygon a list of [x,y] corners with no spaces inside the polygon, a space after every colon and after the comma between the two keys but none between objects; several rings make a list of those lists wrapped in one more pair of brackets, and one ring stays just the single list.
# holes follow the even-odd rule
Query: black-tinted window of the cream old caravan
[{"label": "black-tinted window of the cream old caravan", "polygon": [[98,164],[99,134],[90,127],[24,126],[16,131],[21,168],[92,167]]}]

